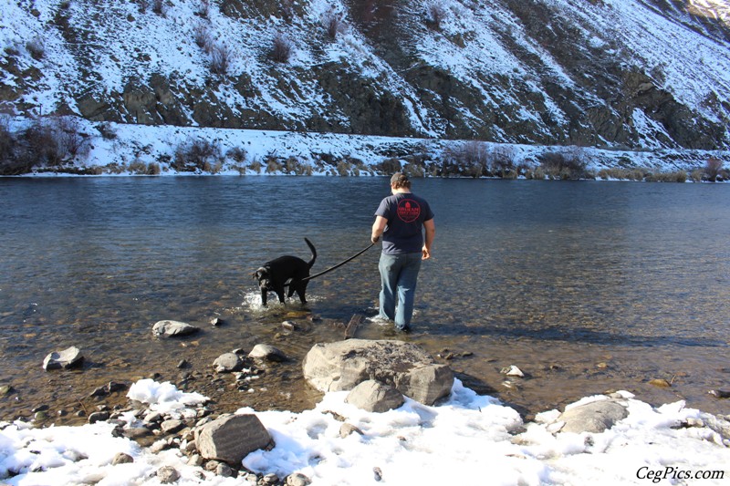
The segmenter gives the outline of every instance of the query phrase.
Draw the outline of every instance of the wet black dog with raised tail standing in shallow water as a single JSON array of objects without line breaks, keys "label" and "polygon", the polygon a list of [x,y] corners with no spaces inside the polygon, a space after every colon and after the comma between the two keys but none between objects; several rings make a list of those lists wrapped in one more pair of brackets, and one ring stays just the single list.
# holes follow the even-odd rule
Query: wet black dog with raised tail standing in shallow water
[{"label": "wet black dog with raised tail standing in shallow water", "polygon": [[261,289],[261,304],[266,305],[266,295],[269,292],[276,292],[279,302],[284,304],[284,287],[288,283],[289,294],[291,297],[296,292],[302,304],[307,304],[305,292],[307,292],[308,280],[304,280],[309,276],[309,269],[312,268],[314,261],[317,260],[317,250],[307,238],[304,239],[312,252],[312,259],[305,262],[297,256],[279,256],[278,258],[266,262],[259,267],[254,273],[254,279],[258,280],[258,287]]}]

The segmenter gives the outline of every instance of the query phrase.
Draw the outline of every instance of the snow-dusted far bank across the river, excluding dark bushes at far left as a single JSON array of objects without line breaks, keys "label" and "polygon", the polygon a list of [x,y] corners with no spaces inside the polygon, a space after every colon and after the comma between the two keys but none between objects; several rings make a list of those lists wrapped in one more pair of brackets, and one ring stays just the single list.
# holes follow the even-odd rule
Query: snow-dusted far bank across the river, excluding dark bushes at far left
[{"label": "snow-dusted far bank across the river, excluding dark bushes at far left", "polygon": [[[36,121],[8,119],[21,133]],[[722,169],[727,150],[602,150],[589,147],[537,146],[474,140],[443,140],[347,135],[260,129],[149,126],[92,123],[86,119],[43,121],[57,134],[61,166],[43,164],[26,175],[379,175],[405,170],[416,175],[462,174],[468,168],[444,169],[444,163],[469,165],[474,158],[496,169],[509,160],[513,168],[536,168],[546,154],[579,160],[587,171],[639,168],[657,173],[694,171],[708,160]],[[75,132],[69,136],[68,130]],[[74,138],[75,154],[63,147]],[[502,162],[500,162],[501,160]],[[610,178],[610,177],[609,177]]]}]

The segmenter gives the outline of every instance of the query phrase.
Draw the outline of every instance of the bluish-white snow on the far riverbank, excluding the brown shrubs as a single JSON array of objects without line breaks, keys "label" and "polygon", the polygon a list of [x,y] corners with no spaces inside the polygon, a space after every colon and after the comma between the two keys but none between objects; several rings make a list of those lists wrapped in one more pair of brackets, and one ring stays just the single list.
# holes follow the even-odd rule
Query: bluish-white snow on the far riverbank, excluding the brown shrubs
[{"label": "bluish-white snow on the far riverbank, excluding the brown shrubs", "polygon": [[[11,119],[14,130],[21,130],[30,122],[28,119]],[[649,123],[639,117],[637,123]],[[105,125],[102,136],[99,129]],[[197,127],[149,126],[120,123],[91,123],[78,119],[80,132],[88,135],[89,153],[78,156],[78,167],[106,168],[115,164],[121,171],[111,171],[128,175],[138,173],[130,166],[133,163],[157,164],[161,175],[174,175],[178,172],[171,167],[175,152],[185,145],[197,140],[205,140],[218,148],[220,159],[212,159],[211,165],[221,162],[220,174],[254,175],[266,172],[266,158],[272,156],[277,160],[294,157],[303,165],[313,167],[315,175],[338,175],[334,165],[323,165],[322,155],[335,160],[350,158],[360,160],[359,169],[352,168],[350,175],[372,175],[377,173],[375,166],[384,160],[395,158],[401,160],[401,167],[407,163],[409,155],[425,155],[427,164],[440,164],[444,150],[458,148],[469,140],[441,140],[398,138],[367,135],[347,135],[338,133],[318,133],[302,131],[276,131],[261,129],[216,129]],[[657,127],[652,127],[659,131]],[[109,133],[113,133],[110,136]],[[593,148],[577,148],[562,146],[535,146],[522,144],[498,144],[483,142],[487,150],[506,150],[516,166],[526,164],[537,167],[538,157],[546,152],[564,151],[574,154],[577,150],[588,162],[588,169],[600,170],[610,167],[639,167],[654,171],[692,171],[704,167],[710,157],[716,157],[730,163],[730,151],[727,150],[600,150]],[[244,150],[245,162],[233,160],[231,150]],[[571,151],[572,150],[572,151]],[[393,155],[400,154],[400,155]],[[262,167],[256,171],[252,162],[259,162]],[[245,167],[244,167],[245,166]],[[245,168],[245,170],[241,170]],[[110,173],[109,171],[105,173]],[[282,171],[273,171],[281,174]]]}]

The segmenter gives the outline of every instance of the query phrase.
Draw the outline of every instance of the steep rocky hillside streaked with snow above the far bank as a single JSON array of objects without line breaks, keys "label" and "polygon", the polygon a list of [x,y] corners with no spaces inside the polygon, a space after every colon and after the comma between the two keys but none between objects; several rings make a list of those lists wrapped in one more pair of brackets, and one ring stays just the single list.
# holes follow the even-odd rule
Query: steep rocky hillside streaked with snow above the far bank
[{"label": "steep rocky hillside streaked with snow above the far bank", "polygon": [[0,0],[0,110],[728,150],[715,0]]}]

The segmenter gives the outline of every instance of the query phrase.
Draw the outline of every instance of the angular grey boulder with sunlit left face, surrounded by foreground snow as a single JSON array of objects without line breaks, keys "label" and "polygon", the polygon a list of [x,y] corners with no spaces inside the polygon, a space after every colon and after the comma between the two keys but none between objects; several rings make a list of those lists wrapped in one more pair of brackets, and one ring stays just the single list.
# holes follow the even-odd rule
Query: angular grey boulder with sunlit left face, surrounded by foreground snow
[{"label": "angular grey boulder with sunlit left face, surrounded by foreground snow", "polygon": [[239,467],[245,456],[264,449],[273,439],[254,414],[226,415],[203,426],[195,446],[204,459],[223,460]]}]

